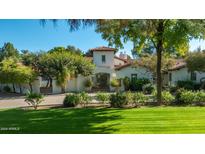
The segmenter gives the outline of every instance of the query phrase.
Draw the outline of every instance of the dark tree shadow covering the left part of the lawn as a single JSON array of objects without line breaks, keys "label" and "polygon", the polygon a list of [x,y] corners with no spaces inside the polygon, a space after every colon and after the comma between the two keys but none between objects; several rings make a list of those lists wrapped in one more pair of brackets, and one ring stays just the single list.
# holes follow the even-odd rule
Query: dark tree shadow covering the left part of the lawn
[{"label": "dark tree shadow covering the left part of the lawn", "polygon": [[[109,109],[46,109],[0,111],[0,133],[22,134],[109,134],[117,131],[117,110]],[[106,123],[106,124],[105,124]]]}]

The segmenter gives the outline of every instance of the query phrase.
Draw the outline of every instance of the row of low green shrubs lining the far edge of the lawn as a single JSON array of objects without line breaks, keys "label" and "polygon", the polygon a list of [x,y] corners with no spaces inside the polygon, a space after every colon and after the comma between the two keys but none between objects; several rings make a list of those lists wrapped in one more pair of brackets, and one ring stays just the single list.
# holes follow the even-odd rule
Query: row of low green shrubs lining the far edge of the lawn
[{"label": "row of low green shrubs lining the far edge of the lawn", "polygon": [[[117,92],[115,94],[97,93],[97,100],[102,103],[109,103],[111,107],[122,108],[125,106],[139,107],[141,105],[148,105],[152,102],[156,102],[156,91],[152,95],[145,95],[142,92],[132,93]],[[64,99],[65,107],[75,107],[78,104],[84,105],[84,107],[92,100],[91,96],[82,92],[79,94],[68,94]],[[163,105],[205,105],[205,92],[204,91],[188,91],[185,89],[178,89],[176,95],[172,95],[169,91],[162,91],[162,103]],[[154,105],[154,104],[153,104]]]}]

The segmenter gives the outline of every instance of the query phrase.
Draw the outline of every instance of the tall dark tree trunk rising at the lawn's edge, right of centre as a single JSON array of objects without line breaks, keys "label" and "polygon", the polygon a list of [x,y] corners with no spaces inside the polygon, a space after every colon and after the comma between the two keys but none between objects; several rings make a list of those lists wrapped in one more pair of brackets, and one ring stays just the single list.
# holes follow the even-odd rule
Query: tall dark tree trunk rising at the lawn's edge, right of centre
[{"label": "tall dark tree trunk rising at the lawn's edge, right of centre", "polygon": [[162,51],[163,51],[163,32],[164,24],[163,20],[159,21],[157,28],[157,105],[162,104],[162,74],[161,74],[161,65],[162,65]]}]

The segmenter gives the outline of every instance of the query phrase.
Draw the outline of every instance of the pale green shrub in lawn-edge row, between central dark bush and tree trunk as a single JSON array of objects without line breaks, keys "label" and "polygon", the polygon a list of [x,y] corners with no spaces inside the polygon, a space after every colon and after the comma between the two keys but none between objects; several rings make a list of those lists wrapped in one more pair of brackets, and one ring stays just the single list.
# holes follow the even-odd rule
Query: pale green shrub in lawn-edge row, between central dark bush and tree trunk
[{"label": "pale green shrub in lawn-edge row, between central dark bush and tree trunk", "polygon": [[148,100],[149,98],[142,92],[133,94],[133,103],[135,104],[135,106],[145,105],[145,103],[148,102]]}]

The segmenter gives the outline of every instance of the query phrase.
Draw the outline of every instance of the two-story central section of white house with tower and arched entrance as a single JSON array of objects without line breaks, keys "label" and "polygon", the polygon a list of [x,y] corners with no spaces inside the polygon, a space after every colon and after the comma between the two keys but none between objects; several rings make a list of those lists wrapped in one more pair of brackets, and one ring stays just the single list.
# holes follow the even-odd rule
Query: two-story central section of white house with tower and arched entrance
[{"label": "two-story central section of white house with tower and arched entrance", "polygon": [[[148,78],[152,80],[152,73],[142,67],[133,67],[133,60],[128,59],[125,53],[120,53],[119,57],[115,55],[116,49],[109,47],[97,47],[90,49],[93,63],[96,65],[92,80],[94,89],[113,91],[110,86],[112,79],[123,79],[124,77],[131,78]],[[123,82],[121,81],[121,90],[124,90]]]}]

